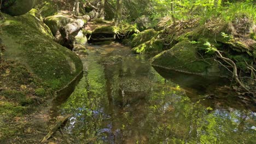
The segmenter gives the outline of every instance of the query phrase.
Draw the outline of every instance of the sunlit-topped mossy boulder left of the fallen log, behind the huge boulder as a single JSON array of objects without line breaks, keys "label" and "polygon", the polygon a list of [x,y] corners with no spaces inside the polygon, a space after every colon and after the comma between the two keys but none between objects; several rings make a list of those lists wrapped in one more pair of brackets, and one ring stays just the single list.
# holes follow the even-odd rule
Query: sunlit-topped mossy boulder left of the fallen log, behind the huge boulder
[{"label": "sunlit-topped mossy boulder left of the fallen log, behind the huge boulder", "polygon": [[44,19],[44,23],[51,29],[53,35],[55,35],[61,27],[66,26],[68,23],[73,21],[74,19],[63,14],[48,16]]}]

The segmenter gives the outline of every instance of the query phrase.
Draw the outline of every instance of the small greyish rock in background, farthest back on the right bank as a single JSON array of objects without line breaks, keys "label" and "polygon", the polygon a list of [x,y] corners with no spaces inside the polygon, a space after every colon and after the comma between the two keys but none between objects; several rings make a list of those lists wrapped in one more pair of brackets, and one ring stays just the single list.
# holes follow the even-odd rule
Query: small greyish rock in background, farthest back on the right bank
[{"label": "small greyish rock in background, farthest back on the right bank", "polygon": [[145,29],[152,27],[151,25],[152,21],[146,15],[142,15],[141,17],[138,17],[134,22],[137,24],[139,31],[144,31]]}]

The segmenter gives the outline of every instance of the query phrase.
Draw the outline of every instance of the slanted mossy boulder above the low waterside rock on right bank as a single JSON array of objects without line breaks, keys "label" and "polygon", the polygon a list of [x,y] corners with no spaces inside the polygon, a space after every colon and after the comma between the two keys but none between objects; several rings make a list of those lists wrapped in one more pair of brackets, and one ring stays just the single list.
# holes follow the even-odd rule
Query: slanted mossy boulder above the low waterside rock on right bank
[{"label": "slanted mossy boulder above the low waterside rock on right bank", "polygon": [[136,47],[146,41],[151,40],[152,38],[157,37],[159,32],[156,32],[154,29],[147,29],[141,33],[135,35],[135,37],[131,41],[131,47]]}]

